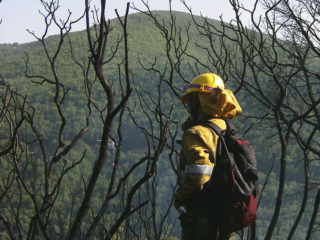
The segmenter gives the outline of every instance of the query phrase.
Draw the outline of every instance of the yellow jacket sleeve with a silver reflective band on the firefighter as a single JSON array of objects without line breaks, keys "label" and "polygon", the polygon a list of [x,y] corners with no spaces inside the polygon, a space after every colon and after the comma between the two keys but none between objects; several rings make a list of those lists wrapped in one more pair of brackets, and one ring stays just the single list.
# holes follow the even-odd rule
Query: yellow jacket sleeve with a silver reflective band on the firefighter
[{"label": "yellow jacket sleeve with a silver reflective band on the firefighter", "polygon": [[179,202],[191,197],[210,180],[215,159],[217,136],[203,126],[194,126],[182,136],[185,172],[175,199]]}]

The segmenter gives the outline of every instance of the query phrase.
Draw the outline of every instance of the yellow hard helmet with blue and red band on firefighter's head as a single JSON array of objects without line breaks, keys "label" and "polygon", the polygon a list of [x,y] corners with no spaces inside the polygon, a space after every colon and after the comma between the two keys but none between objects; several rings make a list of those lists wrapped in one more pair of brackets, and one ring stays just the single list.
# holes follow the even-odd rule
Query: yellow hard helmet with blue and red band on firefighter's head
[{"label": "yellow hard helmet with blue and red band on firefighter's head", "polygon": [[214,73],[204,73],[194,78],[190,84],[183,87],[185,93],[180,98],[183,103],[188,103],[188,95],[191,92],[207,92],[210,93],[212,90],[220,86],[224,89],[224,83],[220,76]]}]

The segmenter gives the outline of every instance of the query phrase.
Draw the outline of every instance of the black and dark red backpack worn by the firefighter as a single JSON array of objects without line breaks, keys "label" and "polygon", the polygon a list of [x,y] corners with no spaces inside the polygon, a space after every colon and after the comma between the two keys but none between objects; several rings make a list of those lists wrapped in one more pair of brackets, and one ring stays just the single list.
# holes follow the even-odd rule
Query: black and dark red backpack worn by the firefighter
[{"label": "black and dark red backpack worn by the firefighter", "polygon": [[211,121],[198,124],[219,136],[216,165],[209,186],[205,186],[207,196],[214,198],[212,218],[230,232],[239,231],[257,218],[258,174],[253,147],[228,121],[226,130]]}]

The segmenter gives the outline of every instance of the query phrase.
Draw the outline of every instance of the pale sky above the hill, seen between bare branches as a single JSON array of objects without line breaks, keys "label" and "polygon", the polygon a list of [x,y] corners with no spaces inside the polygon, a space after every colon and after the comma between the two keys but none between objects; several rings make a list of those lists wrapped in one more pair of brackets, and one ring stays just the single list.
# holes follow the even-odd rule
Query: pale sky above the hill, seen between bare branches
[{"label": "pale sky above the hill, seen between bare branches", "polygon": [[[58,0],[57,0],[58,1]],[[185,0],[188,6],[191,6],[194,15],[208,16],[211,19],[220,20],[219,16],[222,14],[222,19],[229,22],[234,18],[234,12],[228,0]],[[115,9],[117,9],[120,16],[125,14],[128,0],[107,0],[106,4],[106,18],[116,18]],[[245,7],[253,8],[255,0],[240,0]],[[91,1],[91,9],[93,5],[99,6],[99,0]],[[146,6],[141,0],[133,0],[130,5],[145,11]],[[84,11],[84,0],[60,0],[60,8],[56,12],[57,19],[66,19],[68,10],[72,12],[70,19],[78,19]],[[169,10],[169,0],[148,0],[148,5],[151,10]],[[188,9],[181,3],[180,0],[171,1],[172,10],[180,12],[188,12]],[[36,41],[29,31],[34,31],[36,36],[44,34],[44,17],[39,13],[45,13],[44,6],[40,0],[2,0],[0,3],[0,44],[2,43],[29,43]],[[134,13],[133,9],[129,13]],[[258,12],[257,16],[262,11]],[[249,16],[243,14],[244,22],[249,21]],[[72,31],[84,30],[85,20],[81,20],[72,27]],[[49,28],[47,36],[58,34],[58,29]]]}]

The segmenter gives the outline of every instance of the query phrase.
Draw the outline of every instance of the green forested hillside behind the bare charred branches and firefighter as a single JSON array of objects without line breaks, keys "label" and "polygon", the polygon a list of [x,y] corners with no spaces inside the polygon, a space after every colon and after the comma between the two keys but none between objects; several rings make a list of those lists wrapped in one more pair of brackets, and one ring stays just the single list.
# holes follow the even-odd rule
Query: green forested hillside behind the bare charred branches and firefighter
[{"label": "green forested hillside behind the bare charred branches and firefighter", "polygon": [[[78,233],[79,239],[84,239],[84,236],[88,237],[86,239],[108,239],[108,236],[103,233],[104,229],[109,229],[110,235],[114,233],[112,239],[166,239],[169,236],[180,238],[180,224],[179,221],[175,221],[178,216],[172,207],[172,196],[176,189],[177,175],[174,170],[177,166],[180,150],[176,140],[181,138],[180,125],[188,117],[188,112],[179,101],[177,94],[182,94],[183,85],[186,84],[184,79],[191,81],[194,76],[208,72],[209,69],[206,65],[200,64],[202,62],[209,66],[211,62],[206,48],[215,49],[217,52],[225,51],[221,48],[222,42],[218,40],[218,37],[215,40],[208,41],[207,35],[209,33],[199,34],[199,26],[204,23],[202,17],[193,16],[193,19],[191,14],[184,12],[154,11],[151,13],[153,16],[156,15],[160,24],[164,24],[169,29],[167,33],[170,41],[175,41],[180,45],[174,45],[173,42],[170,42],[171,48],[168,49],[165,31],[156,27],[152,17],[142,12],[130,14],[127,18],[129,71],[126,72],[123,26],[118,19],[111,20],[103,65],[104,77],[108,84],[112,86],[115,106],[121,104],[125,98],[126,84],[124,79],[126,77],[130,78],[132,93],[124,107],[115,115],[111,126],[107,143],[112,142],[115,147],[109,144],[107,148],[106,159],[91,199],[92,204],[81,223],[80,233]],[[121,19],[125,20],[124,17]],[[170,32],[173,20],[174,31]],[[222,31],[220,21],[210,19],[205,21],[210,24],[212,31],[215,29],[218,32]],[[198,27],[195,22],[199,24]],[[98,28],[98,25],[96,27]],[[91,27],[91,31],[93,36],[94,27]],[[230,49],[234,49],[235,54],[234,56],[228,55],[228,59],[242,58],[243,56],[236,51],[238,48],[232,41],[232,39],[237,38],[237,33],[232,28],[226,28],[223,34],[228,35],[228,38],[223,39],[223,44]],[[93,36],[93,38],[95,37]],[[266,42],[272,42],[267,35],[264,35],[264,37],[268,39]],[[99,84],[92,63],[88,61],[88,57],[93,57],[90,55],[92,50],[88,46],[87,31],[70,32],[68,36],[64,37],[60,52],[54,59],[54,69],[56,70],[56,73],[54,73],[47,55],[50,55],[52,59],[59,47],[60,40],[60,35],[48,36],[43,40],[47,54],[40,41],[27,44],[0,44],[2,99],[6,99],[3,102],[3,108],[1,108],[4,115],[1,115],[0,142],[3,150],[11,142],[16,144],[10,151],[0,155],[2,176],[2,182],[0,183],[2,190],[0,199],[2,212],[1,239],[9,239],[8,236],[17,233],[23,236],[21,239],[32,239],[30,236],[34,236],[32,235],[34,233],[30,231],[30,226],[33,226],[30,222],[36,220],[40,222],[37,219],[37,214],[42,216],[41,212],[46,212],[47,215],[43,215],[44,225],[40,224],[38,231],[41,234],[38,235],[37,239],[42,239],[46,234],[51,237],[61,236],[61,239],[67,239],[66,237],[70,233],[69,227],[71,227],[81,201],[85,197],[92,169],[100,156],[101,139],[103,141],[102,130],[105,123],[108,122],[106,109],[110,107],[108,105],[110,100],[103,85]],[[119,44],[117,44],[118,42]],[[285,39],[282,42],[285,43]],[[97,46],[94,46],[94,48],[97,48]],[[252,51],[254,52],[254,50]],[[172,58],[175,61],[168,60],[168,55],[173,56]],[[286,55],[283,54],[281,57],[285,58]],[[310,62],[307,62],[307,64],[314,64]],[[90,64],[91,68],[88,69]],[[262,65],[263,62],[261,61],[259,64]],[[223,73],[224,79],[227,80],[226,87],[236,91],[243,82],[239,82],[236,75],[231,73],[231,67],[232,64],[228,65],[220,73]],[[211,69],[212,72],[217,72],[214,67]],[[242,70],[239,68],[240,75]],[[261,69],[258,71],[262,72]],[[315,71],[317,70],[315,69]],[[246,86],[253,86],[256,76],[250,72],[250,67],[244,69],[243,73],[246,78]],[[259,74],[257,73],[257,75]],[[56,76],[59,76],[58,84],[55,80],[57,79]],[[276,101],[278,90],[275,84],[269,82],[270,76],[260,77],[260,87],[271,102],[273,97]],[[294,78],[295,86],[304,84],[303,76],[292,75],[292,78]],[[166,82],[164,79],[173,79],[174,83]],[[314,92],[319,92],[319,85],[315,84],[312,87]],[[57,96],[57,88],[60,89],[59,102],[61,103],[61,109],[57,108],[54,101],[55,96]],[[260,93],[252,92],[251,96],[249,93],[252,90],[246,90],[248,88],[244,87],[243,90],[236,91],[236,98],[243,109],[243,113],[242,116],[234,120],[234,124],[239,127],[240,133],[245,133],[245,138],[255,148],[261,194],[256,237],[263,239],[273,216],[279,179],[282,174],[280,159],[283,145],[278,137],[278,132],[282,131],[285,135],[289,127],[284,126],[285,121],[283,120],[273,122],[273,117],[268,115],[268,111],[272,112],[272,109],[262,100],[258,101],[257,98],[252,97],[254,94],[259,95]],[[300,88],[300,90],[300,92],[294,92],[294,90],[289,89],[290,94],[296,94],[296,98],[285,100],[283,104],[292,106],[292,112],[303,114],[307,107],[304,105],[306,101],[299,97],[299,93],[304,94],[304,89]],[[11,97],[9,97],[10,94]],[[27,102],[24,102],[24,99]],[[9,103],[11,105],[7,105]],[[295,103],[297,104],[294,105]],[[89,105],[90,107],[88,107]],[[313,103],[306,103],[306,105],[313,106]],[[10,109],[15,110],[10,113]],[[28,113],[22,114],[24,109]],[[291,108],[288,107],[287,109]],[[63,114],[61,114],[62,112]],[[288,115],[290,114],[288,113]],[[293,114],[291,115],[293,116]],[[312,121],[311,118],[314,115],[313,113],[309,115],[310,121]],[[21,126],[17,124],[20,116],[22,120],[25,119]],[[61,119],[65,119],[65,121]],[[170,127],[166,125],[167,119],[167,124],[170,122]],[[73,145],[77,134],[88,126],[88,121],[90,121],[90,129],[86,130]],[[15,124],[10,124],[10,122]],[[279,130],[279,126],[276,125],[279,122],[284,130]],[[299,138],[292,134],[286,145],[285,168],[287,171],[284,193],[281,211],[272,239],[287,239],[300,211],[305,186],[304,156],[308,151],[310,152],[308,155],[308,175],[311,182],[308,187],[310,197],[307,200],[306,209],[293,239],[305,238],[314,211],[315,196],[320,180],[318,174],[319,159],[316,151],[301,146],[305,142],[303,138],[308,139],[308,136],[314,134],[311,126],[317,123],[302,128],[302,122],[303,120],[294,122],[291,126],[294,129],[299,129],[299,131],[301,130],[301,132],[297,131],[295,134],[301,134],[302,137]],[[301,124],[301,128],[299,128],[299,124]],[[61,127],[62,125],[63,127]],[[17,126],[19,126],[19,141],[12,138]],[[167,135],[161,135],[164,133]],[[316,144],[319,141],[318,136],[315,135],[310,142]],[[297,141],[296,138],[300,139],[302,143]],[[160,152],[161,144],[159,143],[164,139],[162,146],[164,149]],[[63,155],[63,149],[71,145],[72,148],[68,150],[68,155]],[[45,150],[43,149],[44,146]],[[304,148],[308,151],[304,151]],[[157,155],[158,151],[159,156]],[[58,156],[61,156],[61,159],[56,162],[53,161],[55,170],[52,171],[52,183],[59,184],[54,185],[56,187],[52,186],[52,195],[46,196],[53,197],[53,200],[50,201],[55,204],[50,205],[50,201],[48,201],[47,205],[43,204],[40,207],[40,199],[46,202],[44,196],[47,185],[45,182],[48,177],[43,167],[48,162],[42,159],[55,159]],[[145,161],[147,162],[143,165]],[[146,169],[153,164],[153,161],[156,162],[156,167],[152,177],[136,190],[135,195],[131,196],[130,191],[135,188],[138,180],[145,176]],[[135,166],[137,163],[140,165]],[[17,172],[12,170],[17,168],[20,169]],[[114,175],[115,171],[117,171],[116,177]],[[124,176],[127,176],[128,173],[130,174],[125,178]],[[20,178],[21,182],[18,180]],[[267,178],[268,181],[266,182]],[[122,182],[122,179],[125,179],[125,181]],[[102,207],[102,203],[110,196],[110,192],[108,192],[110,181],[116,182],[115,187],[111,189],[112,194],[116,190],[118,192],[113,198],[110,198],[108,205]],[[23,185],[24,183],[26,186]],[[118,183],[120,184],[117,187]],[[21,187],[21,185],[23,186]],[[26,189],[29,189],[32,194]],[[130,198],[132,203],[130,211],[132,212],[129,211],[130,214],[127,213],[126,220],[116,225],[118,220],[122,218],[122,212],[128,206],[127,199],[129,197],[132,197]],[[34,208],[37,205],[39,206],[38,210]],[[168,212],[167,209],[169,209]],[[48,214],[47,211],[52,212],[52,214]],[[101,211],[103,214],[99,219],[99,224],[93,227],[94,234],[92,236],[86,235],[92,222],[94,222],[93,219]],[[18,212],[19,214],[17,214]],[[14,220],[15,217],[18,219],[17,216],[19,216],[19,220]],[[143,220],[141,221],[141,219]],[[318,218],[317,220],[319,221]],[[12,233],[10,233],[7,222],[11,222],[9,225],[12,226]],[[153,225],[153,222],[156,223]],[[48,227],[50,230],[44,230],[47,225],[50,226]],[[114,226],[117,227],[116,230],[114,230]],[[313,229],[315,231],[312,239],[318,239],[320,237],[318,226]],[[52,237],[52,239],[56,238]]]}]

